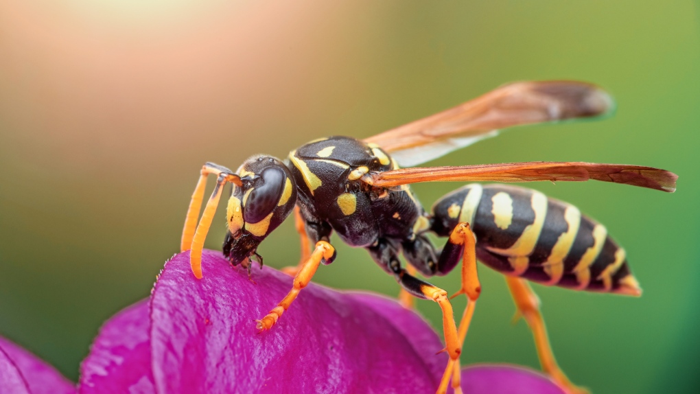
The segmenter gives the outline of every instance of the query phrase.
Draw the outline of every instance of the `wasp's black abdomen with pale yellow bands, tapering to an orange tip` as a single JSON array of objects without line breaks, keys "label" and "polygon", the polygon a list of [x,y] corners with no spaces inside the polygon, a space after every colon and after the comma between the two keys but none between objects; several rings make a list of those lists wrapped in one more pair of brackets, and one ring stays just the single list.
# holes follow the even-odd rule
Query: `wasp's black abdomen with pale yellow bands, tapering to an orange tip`
[{"label": "wasp's black abdomen with pale yellow bands, tapering to an orange tip", "polygon": [[624,249],[573,205],[512,185],[466,185],[433,206],[432,230],[468,222],[477,258],[505,274],[552,286],[639,295]]}]

